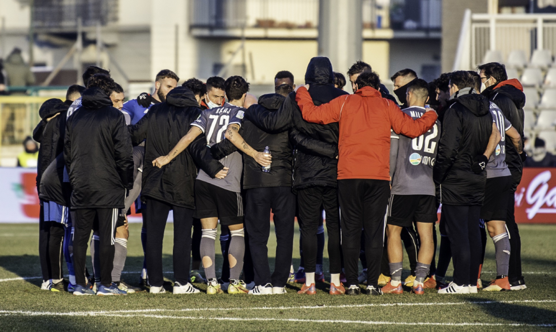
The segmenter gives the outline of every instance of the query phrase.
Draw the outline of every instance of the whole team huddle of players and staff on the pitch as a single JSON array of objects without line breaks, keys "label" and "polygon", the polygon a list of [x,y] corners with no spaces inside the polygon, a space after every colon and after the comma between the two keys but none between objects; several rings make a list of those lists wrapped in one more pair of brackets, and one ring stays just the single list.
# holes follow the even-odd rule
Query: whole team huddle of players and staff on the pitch
[{"label": "whole team huddle of players and staff on the pitch", "polygon": [[[152,95],[124,103],[110,73],[88,67],[85,87],[69,87],[65,102],[43,103],[33,132],[41,143],[41,289],[194,294],[200,290],[193,284],[206,283],[207,294],[270,295],[300,283],[297,293],[312,295],[325,281],[325,227],[331,295],[358,295],[360,284],[369,295],[401,294],[403,286],[419,295],[427,288],[476,293],[486,231],[497,277],[484,290],[526,288],[514,218],[527,158],[525,97],[503,64],[478,69],[430,83],[403,69],[391,77],[397,100],[361,61],[347,71],[353,94],[328,58],[315,57],[305,85],[296,87],[281,71],[275,93],[258,99],[240,76],[178,86],[177,75],[163,70]],[[143,219],[140,286],[121,278],[133,203]],[[162,270],[170,211],[173,283]],[[411,273],[402,281],[404,247]],[[446,284],[451,259],[453,281]]]}]

